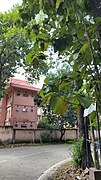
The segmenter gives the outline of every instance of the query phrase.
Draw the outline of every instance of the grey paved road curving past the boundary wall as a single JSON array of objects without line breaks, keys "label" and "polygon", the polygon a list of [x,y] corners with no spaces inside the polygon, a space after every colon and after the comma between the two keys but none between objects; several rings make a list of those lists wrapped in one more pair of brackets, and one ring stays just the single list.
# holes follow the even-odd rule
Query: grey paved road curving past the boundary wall
[{"label": "grey paved road curving past the boundary wall", "polygon": [[37,180],[44,171],[70,156],[70,145],[0,149],[0,180]]}]

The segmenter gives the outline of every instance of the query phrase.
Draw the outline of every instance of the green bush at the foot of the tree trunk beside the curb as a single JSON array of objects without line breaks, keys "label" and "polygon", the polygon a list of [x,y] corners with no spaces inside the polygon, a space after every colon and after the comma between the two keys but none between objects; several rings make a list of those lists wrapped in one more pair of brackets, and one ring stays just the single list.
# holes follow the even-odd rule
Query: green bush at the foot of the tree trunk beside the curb
[{"label": "green bush at the foot of the tree trunk beside the curb", "polygon": [[81,166],[82,161],[82,143],[83,138],[80,138],[78,141],[74,141],[72,146],[72,158],[78,168]]}]

